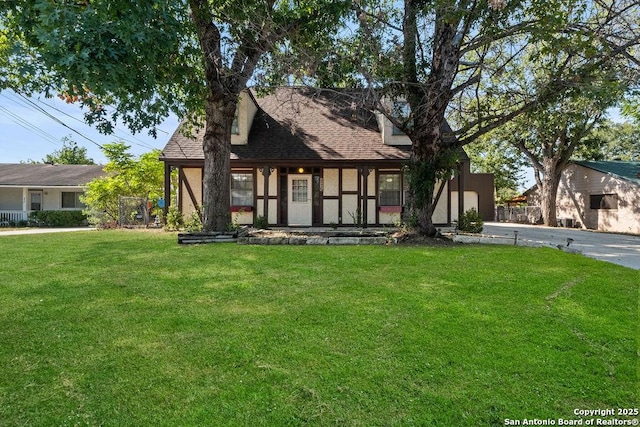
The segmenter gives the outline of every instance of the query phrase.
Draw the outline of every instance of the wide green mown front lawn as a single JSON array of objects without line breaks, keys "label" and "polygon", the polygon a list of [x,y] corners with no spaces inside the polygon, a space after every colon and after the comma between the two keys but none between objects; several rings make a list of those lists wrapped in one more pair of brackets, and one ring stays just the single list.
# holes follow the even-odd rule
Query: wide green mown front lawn
[{"label": "wide green mown front lawn", "polygon": [[638,407],[640,272],[499,246],[0,237],[0,426],[504,425]]}]

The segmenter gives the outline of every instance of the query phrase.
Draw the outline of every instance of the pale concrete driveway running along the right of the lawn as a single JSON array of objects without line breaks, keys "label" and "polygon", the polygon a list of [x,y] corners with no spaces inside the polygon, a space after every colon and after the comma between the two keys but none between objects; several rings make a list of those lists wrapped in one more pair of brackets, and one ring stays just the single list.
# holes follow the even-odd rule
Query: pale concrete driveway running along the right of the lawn
[{"label": "pale concrete driveway running along the right of the lawn", "polygon": [[487,222],[482,233],[514,237],[515,230],[518,240],[554,246],[566,245],[567,239],[571,238],[571,247],[581,250],[585,256],[640,270],[640,236],[504,222]]}]

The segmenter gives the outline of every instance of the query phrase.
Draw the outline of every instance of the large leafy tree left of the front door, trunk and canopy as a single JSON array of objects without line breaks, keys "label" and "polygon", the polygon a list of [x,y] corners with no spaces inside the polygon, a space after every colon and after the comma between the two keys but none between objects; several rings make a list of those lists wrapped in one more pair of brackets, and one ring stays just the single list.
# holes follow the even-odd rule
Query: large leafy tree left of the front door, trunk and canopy
[{"label": "large leafy tree left of the front door, trunk and canopy", "polygon": [[0,82],[17,91],[62,93],[87,107],[86,119],[107,133],[116,120],[153,133],[170,111],[190,126],[203,125],[204,228],[225,230],[240,92],[265,53],[296,34],[331,34],[347,6],[316,0],[9,0],[0,11],[0,31],[14,45],[11,61],[0,58],[10,71]]}]

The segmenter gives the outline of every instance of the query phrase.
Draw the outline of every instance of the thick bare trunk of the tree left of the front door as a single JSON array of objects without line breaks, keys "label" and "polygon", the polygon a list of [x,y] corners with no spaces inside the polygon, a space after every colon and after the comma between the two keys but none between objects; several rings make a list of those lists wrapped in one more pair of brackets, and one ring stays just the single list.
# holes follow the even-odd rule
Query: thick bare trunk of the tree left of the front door
[{"label": "thick bare trunk of the tree left of the front door", "polygon": [[206,105],[202,223],[205,231],[226,231],[231,223],[231,125],[236,102],[210,95]]}]

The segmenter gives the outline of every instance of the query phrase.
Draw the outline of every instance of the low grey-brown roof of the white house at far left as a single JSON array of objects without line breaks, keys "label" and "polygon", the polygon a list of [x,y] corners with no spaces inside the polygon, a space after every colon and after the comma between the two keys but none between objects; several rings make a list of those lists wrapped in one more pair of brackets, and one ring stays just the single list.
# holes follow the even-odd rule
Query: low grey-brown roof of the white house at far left
[{"label": "low grey-brown roof of the white house at far left", "polygon": [[77,187],[104,175],[100,165],[0,164],[0,185]]}]

